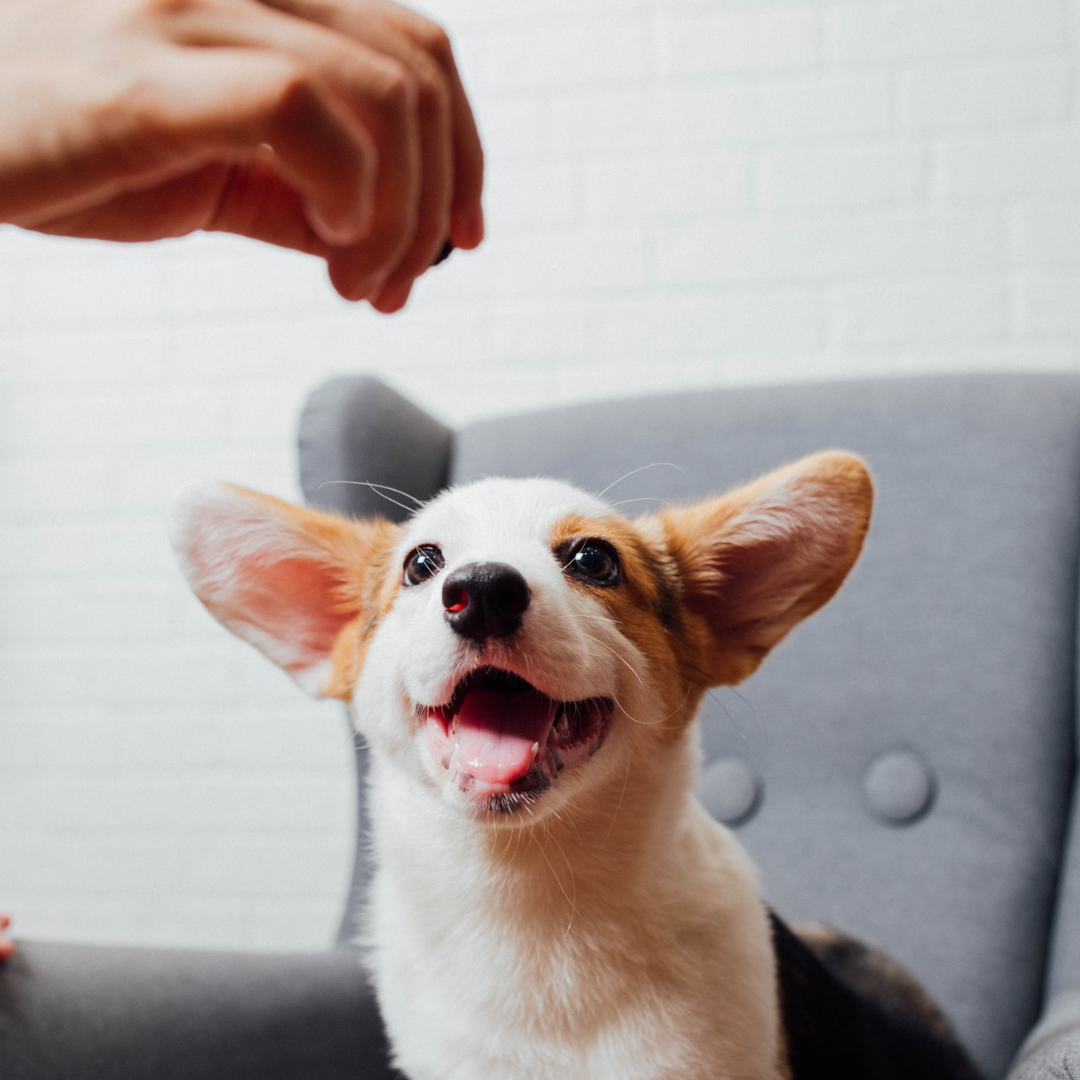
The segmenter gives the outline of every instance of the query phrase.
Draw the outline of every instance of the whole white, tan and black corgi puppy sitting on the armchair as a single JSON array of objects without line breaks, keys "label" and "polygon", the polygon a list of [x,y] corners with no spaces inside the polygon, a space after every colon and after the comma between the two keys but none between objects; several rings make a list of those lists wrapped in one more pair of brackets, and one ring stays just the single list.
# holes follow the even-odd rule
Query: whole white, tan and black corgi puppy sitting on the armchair
[{"label": "whole white, tan and black corgi puppy sitting on the armchair", "polygon": [[368,960],[413,1080],[976,1076],[899,969],[772,915],[694,798],[702,694],[833,596],[872,500],[842,453],[636,521],[550,480],[402,525],[177,494],[198,597],[369,744]]}]

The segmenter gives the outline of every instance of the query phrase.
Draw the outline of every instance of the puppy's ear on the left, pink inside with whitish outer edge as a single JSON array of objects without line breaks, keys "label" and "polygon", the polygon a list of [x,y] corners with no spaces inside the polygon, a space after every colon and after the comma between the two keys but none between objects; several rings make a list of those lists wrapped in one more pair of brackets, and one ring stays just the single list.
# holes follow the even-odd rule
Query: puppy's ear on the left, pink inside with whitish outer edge
[{"label": "puppy's ear on the left, pink inside with whitish outer edge", "polygon": [[347,521],[231,484],[188,484],[170,536],[194,594],[309,693],[348,698],[379,615],[397,526]]}]

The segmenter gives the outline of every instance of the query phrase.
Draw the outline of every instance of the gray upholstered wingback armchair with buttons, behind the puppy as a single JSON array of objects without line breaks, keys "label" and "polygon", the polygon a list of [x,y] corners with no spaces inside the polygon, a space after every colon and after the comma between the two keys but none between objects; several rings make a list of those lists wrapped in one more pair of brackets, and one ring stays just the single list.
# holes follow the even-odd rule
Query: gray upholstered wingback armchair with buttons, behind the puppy
[{"label": "gray upholstered wingback armchair with buttons, behind the puppy", "polygon": [[[391,517],[404,511],[376,489],[333,482],[422,499],[488,473],[593,490],[619,481],[608,498],[636,512],[825,447],[875,472],[869,542],[828,607],[738,692],[707,699],[702,799],[737,829],[783,916],[891,951],[989,1077],[1080,1074],[1080,378],[717,391],[457,432],[375,380],[337,379],[300,426],[309,501]],[[0,973],[5,1080],[388,1075],[345,950],[28,943]]]}]

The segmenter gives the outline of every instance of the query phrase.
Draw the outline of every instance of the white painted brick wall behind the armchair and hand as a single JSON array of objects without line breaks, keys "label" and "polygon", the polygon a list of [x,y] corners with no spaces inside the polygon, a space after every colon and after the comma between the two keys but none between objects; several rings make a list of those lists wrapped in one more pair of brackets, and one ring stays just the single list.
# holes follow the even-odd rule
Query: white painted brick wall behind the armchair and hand
[{"label": "white painted brick wall behind the armchair and hand", "polygon": [[319,948],[349,741],[186,593],[170,492],[296,495],[305,393],[450,421],[657,389],[1080,369],[1068,0],[432,0],[489,240],[392,319],[221,237],[0,230],[0,910],[31,936]]}]

